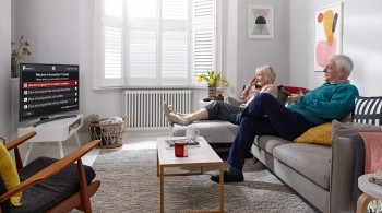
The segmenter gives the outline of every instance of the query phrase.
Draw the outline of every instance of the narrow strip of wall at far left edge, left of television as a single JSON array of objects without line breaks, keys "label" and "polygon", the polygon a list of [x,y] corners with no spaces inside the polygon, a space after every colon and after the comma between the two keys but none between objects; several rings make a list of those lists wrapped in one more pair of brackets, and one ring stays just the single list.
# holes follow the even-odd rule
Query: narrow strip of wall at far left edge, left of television
[{"label": "narrow strip of wall at far left edge, left of television", "polygon": [[11,137],[11,0],[0,1],[0,137]]}]

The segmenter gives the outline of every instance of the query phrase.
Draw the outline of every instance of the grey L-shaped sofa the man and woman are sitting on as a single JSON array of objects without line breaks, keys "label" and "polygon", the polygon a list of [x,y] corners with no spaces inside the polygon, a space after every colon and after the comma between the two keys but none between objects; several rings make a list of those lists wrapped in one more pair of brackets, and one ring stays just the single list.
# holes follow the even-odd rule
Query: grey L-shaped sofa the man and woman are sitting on
[{"label": "grey L-shaped sofa the man and woman are sitting on", "polygon": [[[222,127],[224,125],[226,127]],[[201,135],[207,133],[205,139],[210,143],[231,142],[238,130],[238,126],[223,121],[218,121],[218,125],[216,121],[202,121],[192,126],[201,130]],[[349,135],[359,131],[382,132],[382,127],[337,120],[332,126],[332,146],[294,143],[277,137],[262,135],[255,138],[251,152],[321,212],[354,212],[355,154]],[[184,135],[184,129],[176,125],[171,132],[174,135]],[[226,135],[227,132],[231,135]],[[224,140],[222,134],[226,135]]]}]

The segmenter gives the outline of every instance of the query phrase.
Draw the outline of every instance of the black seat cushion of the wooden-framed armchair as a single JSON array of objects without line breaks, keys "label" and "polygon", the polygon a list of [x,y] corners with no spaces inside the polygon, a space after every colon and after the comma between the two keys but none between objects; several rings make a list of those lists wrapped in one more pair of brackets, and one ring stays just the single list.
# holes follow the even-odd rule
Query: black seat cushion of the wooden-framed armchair
[{"label": "black seat cushion of the wooden-framed armchair", "polygon": [[[49,157],[38,157],[19,170],[21,180],[25,180],[57,161]],[[84,168],[86,181],[91,184],[95,178],[95,173],[89,166],[84,166]],[[77,165],[73,163],[48,180],[26,188],[23,191],[23,205],[21,208],[13,208],[12,212],[46,212],[79,190]]]}]

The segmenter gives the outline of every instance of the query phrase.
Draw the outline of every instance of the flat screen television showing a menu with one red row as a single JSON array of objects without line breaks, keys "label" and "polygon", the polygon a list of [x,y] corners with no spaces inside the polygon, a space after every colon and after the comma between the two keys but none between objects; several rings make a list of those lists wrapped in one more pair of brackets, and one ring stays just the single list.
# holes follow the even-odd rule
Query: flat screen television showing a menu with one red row
[{"label": "flat screen television showing a menu with one red row", "polygon": [[80,109],[79,71],[77,64],[20,63],[19,120],[39,119],[37,126],[75,117],[68,113]]}]

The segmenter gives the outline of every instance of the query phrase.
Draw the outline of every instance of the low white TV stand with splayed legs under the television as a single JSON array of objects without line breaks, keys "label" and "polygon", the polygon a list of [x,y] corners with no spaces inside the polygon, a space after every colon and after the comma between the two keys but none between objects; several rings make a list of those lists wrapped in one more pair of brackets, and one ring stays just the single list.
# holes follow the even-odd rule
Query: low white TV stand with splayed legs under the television
[{"label": "low white TV stand with splayed legs under the television", "polygon": [[76,115],[76,117],[52,120],[49,122],[40,123],[36,127],[34,127],[35,122],[31,122],[17,128],[19,137],[24,135],[32,131],[37,132],[35,137],[33,137],[27,141],[28,149],[26,151],[25,158],[23,162],[24,166],[27,164],[27,159],[29,157],[33,143],[58,142],[61,158],[63,157],[62,141],[68,140],[73,133],[75,135],[76,143],[80,146],[80,139],[76,131],[83,125],[82,117],[83,116],[80,114],[80,115]]}]

